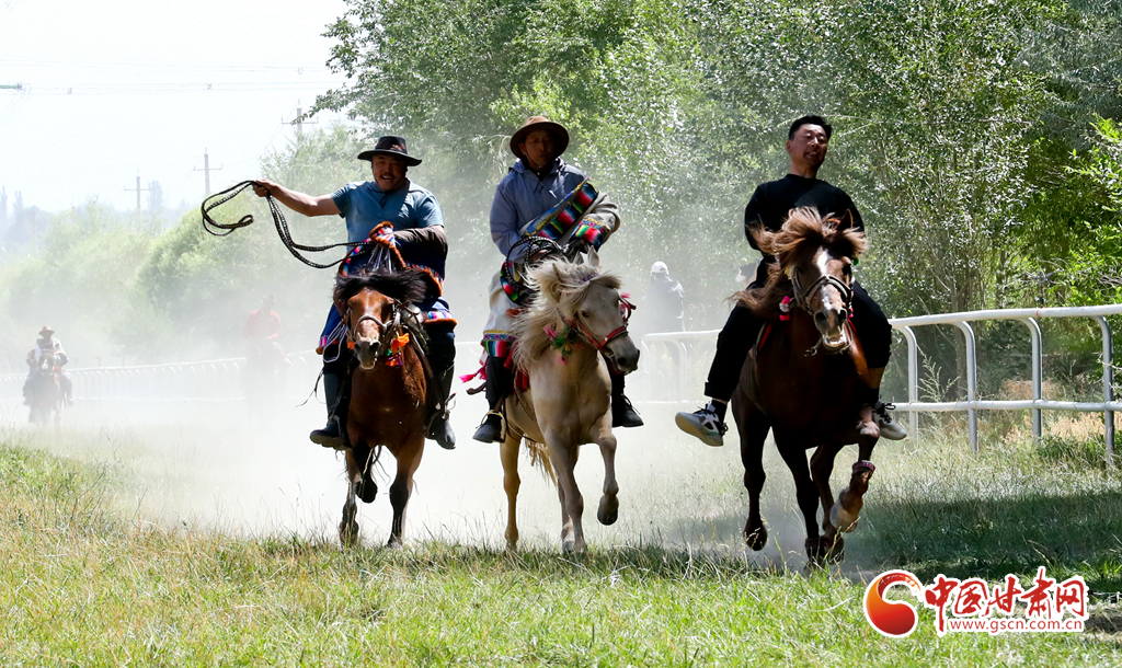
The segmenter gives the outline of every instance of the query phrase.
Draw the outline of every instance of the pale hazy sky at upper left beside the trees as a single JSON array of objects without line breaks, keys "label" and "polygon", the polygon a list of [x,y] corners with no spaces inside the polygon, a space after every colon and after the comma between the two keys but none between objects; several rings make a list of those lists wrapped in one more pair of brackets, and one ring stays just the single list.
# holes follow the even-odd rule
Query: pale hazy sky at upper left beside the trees
[{"label": "pale hazy sky at upper left beside the trees", "polygon": [[[258,175],[297,105],[342,81],[324,66],[342,0],[0,0],[0,186],[59,211],[91,196],[168,206]],[[210,86],[210,90],[208,90]],[[323,120],[323,119],[319,119]],[[147,205],[147,200],[145,201]]]}]

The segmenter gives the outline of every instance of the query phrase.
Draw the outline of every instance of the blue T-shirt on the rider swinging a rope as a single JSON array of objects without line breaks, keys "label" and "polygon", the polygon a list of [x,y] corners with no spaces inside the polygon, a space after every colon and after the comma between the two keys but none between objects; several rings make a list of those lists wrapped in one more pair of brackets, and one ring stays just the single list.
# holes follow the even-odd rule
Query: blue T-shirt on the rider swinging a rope
[{"label": "blue T-shirt on the rider swinging a rope", "polygon": [[393,223],[394,230],[444,224],[436,197],[410,180],[393,193],[383,192],[373,180],[349,183],[331,198],[340,217],[347,220],[347,240],[352,242],[366,240],[370,230],[383,221]]}]

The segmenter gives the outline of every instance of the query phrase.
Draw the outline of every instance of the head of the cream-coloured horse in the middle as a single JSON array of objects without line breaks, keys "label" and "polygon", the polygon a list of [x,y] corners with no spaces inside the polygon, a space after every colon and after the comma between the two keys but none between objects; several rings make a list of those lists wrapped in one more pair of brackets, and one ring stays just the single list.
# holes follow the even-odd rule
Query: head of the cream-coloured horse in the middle
[{"label": "head of the cream-coloured horse in the middle", "polygon": [[638,369],[640,351],[627,333],[634,306],[619,294],[619,279],[601,273],[595,250],[576,261],[546,261],[531,270],[530,281],[610,367],[623,373]]}]

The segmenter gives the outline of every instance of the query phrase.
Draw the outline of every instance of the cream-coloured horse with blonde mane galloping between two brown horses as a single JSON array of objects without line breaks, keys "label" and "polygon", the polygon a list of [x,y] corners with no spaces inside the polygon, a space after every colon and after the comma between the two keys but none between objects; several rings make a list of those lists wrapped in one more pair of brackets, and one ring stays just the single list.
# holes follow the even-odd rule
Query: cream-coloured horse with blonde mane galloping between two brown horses
[{"label": "cream-coloured horse with blonde mane galloping between two brown horses", "polygon": [[632,307],[619,294],[619,279],[600,272],[596,251],[579,261],[546,260],[528,277],[537,296],[515,323],[514,349],[515,367],[525,373],[528,388],[506,400],[500,446],[506,541],[508,548],[517,547],[518,444],[525,438],[533,460],[548,457],[546,473],[558,485],[562,549],[583,553],[585,500],[573,475],[581,445],[596,443],[604,457],[597,519],[611,525],[619,510],[608,364],[625,373],[638,368],[638,349],[627,335]]}]

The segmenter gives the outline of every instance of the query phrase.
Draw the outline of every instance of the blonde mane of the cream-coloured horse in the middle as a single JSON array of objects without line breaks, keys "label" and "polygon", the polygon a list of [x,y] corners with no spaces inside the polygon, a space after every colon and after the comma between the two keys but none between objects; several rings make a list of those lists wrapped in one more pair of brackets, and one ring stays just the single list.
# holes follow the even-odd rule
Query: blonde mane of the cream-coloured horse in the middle
[{"label": "blonde mane of the cream-coloured horse in the middle", "polygon": [[564,259],[548,260],[532,269],[528,284],[537,290],[537,296],[514,322],[514,335],[518,341],[514,347],[514,363],[521,369],[545,354],[552,345],[545,328],[562,331],[564,314],[576,313],[594,285],[613,290],[622,285],[614,275],[600,273],[599,267]]}]

